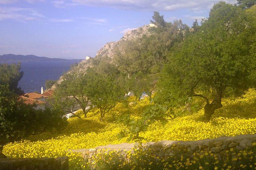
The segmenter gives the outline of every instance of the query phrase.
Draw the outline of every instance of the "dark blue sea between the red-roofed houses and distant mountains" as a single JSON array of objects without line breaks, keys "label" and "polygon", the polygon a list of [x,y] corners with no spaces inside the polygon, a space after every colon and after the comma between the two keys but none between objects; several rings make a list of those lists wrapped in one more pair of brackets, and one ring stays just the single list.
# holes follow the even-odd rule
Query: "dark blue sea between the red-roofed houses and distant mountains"
[{"label": "dark blue sea between the red-roofed houses and distant mountains", "polygon": [[41,61],[41,62],[21,62],[23,77],[18,83],[25,93],[38,91],[45,88],[46,80],[58,80],[63,72],[70,69],[71,61]]}]

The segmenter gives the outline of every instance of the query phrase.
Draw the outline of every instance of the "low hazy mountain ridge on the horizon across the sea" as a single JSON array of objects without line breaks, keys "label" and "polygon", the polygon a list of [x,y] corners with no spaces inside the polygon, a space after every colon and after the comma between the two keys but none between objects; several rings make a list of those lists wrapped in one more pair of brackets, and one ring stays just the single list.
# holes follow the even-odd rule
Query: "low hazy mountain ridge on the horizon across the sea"
[{"label": "low hazy mountain ridge on the horizon across the sea", "polygon": [[38,57],[35,55],[15,55],[15,54],[4,54],[0,55],[0,63],[17,63],[17,62],[53,62],[53,61],[70,61],[72,63],[79,63],[82,59],[63,59],[63,58],[48,58],[48,57]]}]

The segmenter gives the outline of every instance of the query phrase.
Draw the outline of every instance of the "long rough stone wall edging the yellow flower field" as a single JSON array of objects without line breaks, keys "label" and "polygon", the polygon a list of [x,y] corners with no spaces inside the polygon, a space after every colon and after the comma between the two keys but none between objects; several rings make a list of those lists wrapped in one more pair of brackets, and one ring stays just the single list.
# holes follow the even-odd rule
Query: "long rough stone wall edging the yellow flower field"
[{"label": "long rough stone wall edging the yellow flower field", "polygon": [[[145,150],[149,150],[152,154],[161,158],[168,156],[181,155],[193,158],[196,154],[204,154],[205,151],[211,151],[211,153],[217,154],[219,160],[223,156],[227,156],[231,150],[244,150],[253,147],[256,143],[256,134],[253,135],[239,135],[234,137],[222,136],[215,139],[204,139],[197,141],[169,141],[163,140],[159,142],[147,142],[143,143],[142,147]],[[131,150],[133,152],[134,146],[136,148],[138,143],[120,143],[117,145],[99,146],[91,149],[79,149],[71,150],[73,152],[81,152],[85,159],[90,159],[97,154],[109,152],[115,150],[118,153],[126,156],[127,152]]]}]

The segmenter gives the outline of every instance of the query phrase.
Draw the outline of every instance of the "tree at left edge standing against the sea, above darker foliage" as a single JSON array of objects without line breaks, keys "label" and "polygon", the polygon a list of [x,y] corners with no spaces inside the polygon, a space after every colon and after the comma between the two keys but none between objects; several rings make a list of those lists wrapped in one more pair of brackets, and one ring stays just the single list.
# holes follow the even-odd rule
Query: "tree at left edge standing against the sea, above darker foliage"
[{"label": "tree at left edge standing against the sea, above darker foliage", "polygon": [[23,76],[23,71],[19,72],[21,64],[0,64],[0,85],[9,84],[10,90],[22,95],[24,92],[19,88],[18,82]]}]

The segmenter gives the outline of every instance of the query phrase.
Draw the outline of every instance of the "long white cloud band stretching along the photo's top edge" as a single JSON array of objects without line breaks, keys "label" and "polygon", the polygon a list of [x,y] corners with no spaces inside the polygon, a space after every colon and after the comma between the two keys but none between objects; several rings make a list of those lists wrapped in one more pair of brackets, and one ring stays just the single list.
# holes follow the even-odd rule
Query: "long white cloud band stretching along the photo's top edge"
[{"label": "long white cloud band stretching along the photo's top edge", "polygon": [[[85,6],[114,7],[132,11],[175,11],[187,9],[201,11],[211,8],[219,0],[72,0],[73,3]],[[236,0],[226,0],[227,3],[237,3]]]}]

